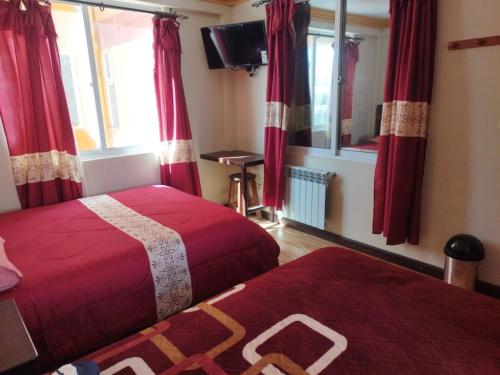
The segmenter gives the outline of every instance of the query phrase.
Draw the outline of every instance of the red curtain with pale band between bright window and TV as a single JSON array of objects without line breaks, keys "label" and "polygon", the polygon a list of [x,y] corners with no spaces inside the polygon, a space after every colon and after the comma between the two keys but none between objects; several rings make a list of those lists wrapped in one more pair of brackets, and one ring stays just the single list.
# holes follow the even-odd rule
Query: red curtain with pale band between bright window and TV
[{"label": "red curtain with pale band between bright window and TV", "polygon": [[155,89],[161,141],[161,183],[201,196],[191,127],[181,77],[179,24],[153,18]]}]

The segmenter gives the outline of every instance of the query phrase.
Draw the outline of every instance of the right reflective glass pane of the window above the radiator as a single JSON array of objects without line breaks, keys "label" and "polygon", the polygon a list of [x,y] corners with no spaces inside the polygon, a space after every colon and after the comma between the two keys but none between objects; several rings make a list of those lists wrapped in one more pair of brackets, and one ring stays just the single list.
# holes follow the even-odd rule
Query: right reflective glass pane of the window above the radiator
[{"label": "right reflective glass pane of the window above the radiator", "polygon": [[389,44],[389,0],[347,0],[339,147],[376,152]]}]

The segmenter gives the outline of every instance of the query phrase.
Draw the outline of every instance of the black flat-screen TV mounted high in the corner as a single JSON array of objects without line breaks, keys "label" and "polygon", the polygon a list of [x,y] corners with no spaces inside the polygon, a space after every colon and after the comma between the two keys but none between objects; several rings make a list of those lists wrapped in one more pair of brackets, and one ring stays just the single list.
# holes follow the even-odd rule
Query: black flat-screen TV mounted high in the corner
[{"label": "black flat-screen TV mounted high in the corner", "polygon": [[210,69],[267,64],[264,21],[203,27],[201,36]]}]

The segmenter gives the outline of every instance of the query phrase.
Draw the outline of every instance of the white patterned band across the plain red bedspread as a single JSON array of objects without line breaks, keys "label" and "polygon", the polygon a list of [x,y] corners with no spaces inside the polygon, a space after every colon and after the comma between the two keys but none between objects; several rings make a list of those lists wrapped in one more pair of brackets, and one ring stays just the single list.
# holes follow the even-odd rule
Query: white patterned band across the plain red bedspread
[{"label": "white patterned band across the plain red bedspread", "polygon": [[191,305],[191,274],[179,233],[142,216],[109,195],[82,198],[80,202],[143,244],[155,286],[158,321]]}]

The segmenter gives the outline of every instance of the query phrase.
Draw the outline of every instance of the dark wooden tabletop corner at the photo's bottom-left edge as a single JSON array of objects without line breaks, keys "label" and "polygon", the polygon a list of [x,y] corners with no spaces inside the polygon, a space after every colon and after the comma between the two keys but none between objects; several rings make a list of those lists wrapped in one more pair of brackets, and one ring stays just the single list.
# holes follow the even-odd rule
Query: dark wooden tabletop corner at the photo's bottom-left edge
[{"label": "dark wooden tabletop corner at the photo's bottom-left edge", "polygon": [[16,303],[12,299],[0,301],[0,373],[17,370],[37,357]]}]

